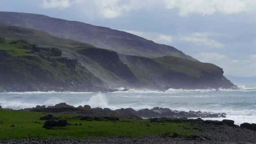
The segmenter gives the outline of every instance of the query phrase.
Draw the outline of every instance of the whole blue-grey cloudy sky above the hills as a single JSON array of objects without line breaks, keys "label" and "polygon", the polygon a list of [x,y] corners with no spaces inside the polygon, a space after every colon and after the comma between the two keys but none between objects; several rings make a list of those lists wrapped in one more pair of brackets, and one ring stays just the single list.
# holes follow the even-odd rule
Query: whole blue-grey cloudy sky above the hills
[{"label": "whole blue-grey cloudy sky above the hills", "polygon": [[256,76],[256,0],[1,0],[0,11],[81,21],[174,46],[233,76]]}]

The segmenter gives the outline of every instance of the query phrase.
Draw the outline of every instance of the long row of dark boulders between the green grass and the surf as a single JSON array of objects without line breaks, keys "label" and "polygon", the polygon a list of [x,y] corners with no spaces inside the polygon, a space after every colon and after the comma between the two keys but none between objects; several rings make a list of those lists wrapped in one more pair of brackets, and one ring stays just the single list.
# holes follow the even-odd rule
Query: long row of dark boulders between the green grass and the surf
[{"label": "long row of dark boulders between the green grass and the surf", "polygon": [[44,112],[68,112],[68,111],[81,111],[84,113],[93,113],[93,116],[96,115],[121,115],[121,116],[136,116],[140,118],[154,118],[154,117],[201,117],[201,118],[207,118],[207,117],[226,117],[226,113],[217,113],[212,114],[208,112],[201,112],[201,111],[177,111],[172,110],[170,108],[159,108],[155,107],[152,109],[140,109],[138,111],[132,109],[132,108],[121,108],[116,110],[111,110],[109,108],[91,108],[89,105],[79,106],[75,108],[74,106],[68,105],[66,103],[59,103],[55,106],[36,106],[33,108],[25,108],[24,110],[32,110],[32,111],[44,111]]}]

